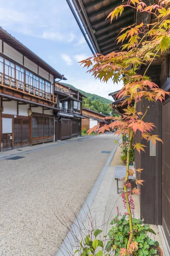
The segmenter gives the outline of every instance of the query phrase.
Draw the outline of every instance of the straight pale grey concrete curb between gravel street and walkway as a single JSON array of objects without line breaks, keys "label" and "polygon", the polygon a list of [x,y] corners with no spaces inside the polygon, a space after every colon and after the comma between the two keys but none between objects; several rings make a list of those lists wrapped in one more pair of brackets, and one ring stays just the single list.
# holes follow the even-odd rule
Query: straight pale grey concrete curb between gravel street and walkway
[{"label": "straight pale grey concrete curb between gravel street and walkway", "polygon": [[[82,208],[80,209],[77,218],[75,219],[74,223],[71,226],[71,230],[74,230],[74,234],[76,234],[76,237],[79,236],[79,229],[83,227],[83,222],[85,222],[85,219],[87,217],[87,213],[89,212],[89,209],[91,209],[91,206],[94,202],[94,199],[96,197],[96,194],[98,192],[98,189],[102,183],[102,180],[105,176],[105,173],[108,169],[108,167],[111,164],[111,160],[113,159],[113,156],[116,152],[116,149],[118,147],[118,144],[115,146],[113,151],[111,152],[110,156],[108,157],[108,160],[105,163],[105,166],[103,167],[102,171],[99,174],[99,177],[97,178],[96,182],[94,183],[93,188],[91,189],[91,192],[89,193],[88,197],[85,200],[85,203],[83,204]],[[81,219],[81,224],[77,219]],[[69,242],[68,242],[69,241]],[[67,233],[67,236],[65,237],[64,241],[62,242],[59,251],[57,252],[56,256],[69,256],[68,251],[72,251],[72,244],[74,244],[74,238],[71,234],[71,231]]]}]

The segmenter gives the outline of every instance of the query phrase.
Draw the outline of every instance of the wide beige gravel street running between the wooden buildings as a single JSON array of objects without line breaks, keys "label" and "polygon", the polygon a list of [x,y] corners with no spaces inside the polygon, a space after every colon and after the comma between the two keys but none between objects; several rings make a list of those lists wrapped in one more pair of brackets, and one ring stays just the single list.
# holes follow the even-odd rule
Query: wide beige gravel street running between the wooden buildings
[{"label": "wide beige gravel street running between the wooden buildings", "polygon": [[[112,133],[0,160],[0,256],[55,256],[115,147]],[[54,214],[55,213],[55,214]],[[59,234],[59,235],[58,235]],[[61,238],[59,238],[59,236]]]}]

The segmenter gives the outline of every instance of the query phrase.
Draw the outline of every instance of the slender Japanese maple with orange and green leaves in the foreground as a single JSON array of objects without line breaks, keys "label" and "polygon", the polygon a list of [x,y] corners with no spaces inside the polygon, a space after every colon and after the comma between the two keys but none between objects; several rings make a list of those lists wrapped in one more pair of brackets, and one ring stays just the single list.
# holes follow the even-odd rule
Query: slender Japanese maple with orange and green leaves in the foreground
[{"label": "slender Japanese maple with orange and green leaves in the foreground", "polygon": [[[124,2],[124,1],[123,1]],[[162,142],[158,135],[153,134],[155,125],[151,122],[145,122],[144,117],[149,110],[149,106],[144,104],[148,102],[162,102],[166,94],[159,86],[146,76],[147,70],[156,58],[166,52],[170,47],[170,0],[158,0],[157,4],[147,6],[142,0],[128,0],[125,4],[116,7],[107,18],[114,18],[122,15],[125,8],[136,9],[136,12],[148,12],[154,16],[152,24],[133,24],[121,29],[118,35],[117,42],[121,42],[122,46],[119,51],[111,52],[107,55],[95,54],[93,57],[81,61],[84,67],[90,67],[88,70],[96,79],[107,82],[109,79],[113,83],[119,81],[124,82],[124,87],[117,94],[117,99],[122,100],[124,113],[120,117],[109,116],[107,119],[112,119],[113,122],[109,125],[94,126],[88,130],[88,134],[98,130],[104,133],[105,130],[110,131],[117,128],[115,134],[127,134],[129,137],[127,149],[127,172],[123,183],[122,198],[125,198],[130,234],[127,242],[127,248],[120,250],[120,255],[133,255],[134,250],[138,248],[138,244],[133,242],[133,223],[132,209],[130,205],[130,183],[128,182],[129,175],[135,172],[142,172],[143,169],[131,170],[129,168],[129,153],[131,148],[136,148],[139,153],[144,151],[145,145],[135,143],[136,131],[140,131],[141,139],[152,141],[156,145],[156,141]],[[124,41],[127,41],[124,44]],[[141,65],[145,65],[146,69],[143,75],[139,75],[138,71]],[[142,102],[144,113],[136,111],[136,105]],[[99,128],[99,129],[98,129]],[[136,185],[143,185],[144,180],[136,179]],[[140,190],[136,187],[132,190],[133,194],[139,195]],[[136,255],[136,254],[135,254]]]}]

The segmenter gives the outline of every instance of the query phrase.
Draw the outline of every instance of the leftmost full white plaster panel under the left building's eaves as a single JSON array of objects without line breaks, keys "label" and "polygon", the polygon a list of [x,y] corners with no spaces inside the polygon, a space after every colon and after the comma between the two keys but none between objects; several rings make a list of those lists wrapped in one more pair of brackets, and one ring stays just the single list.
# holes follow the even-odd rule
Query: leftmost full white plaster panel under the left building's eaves
[{"label": "leftmost full white plaster panel under the left building's eaves", "polygon": [[3,54],[23,65],[23,55],[5,42],[3,43]]}]

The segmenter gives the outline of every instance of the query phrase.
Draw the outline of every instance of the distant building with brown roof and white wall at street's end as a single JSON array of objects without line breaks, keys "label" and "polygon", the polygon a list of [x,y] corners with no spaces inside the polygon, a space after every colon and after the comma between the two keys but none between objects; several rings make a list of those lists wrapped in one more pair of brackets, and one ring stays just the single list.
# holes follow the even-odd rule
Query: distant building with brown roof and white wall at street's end
[{"label": "distant building with brown roof and white wall at street's end", "polygon": [[82,108],[82,115],[85,119],[82,119],[82,129],[90,129],[93,128],[94,125],[97,125],[98,122],[101,124],[105,124],[105,117],[102,113],[91,110],[90,108]]}]

